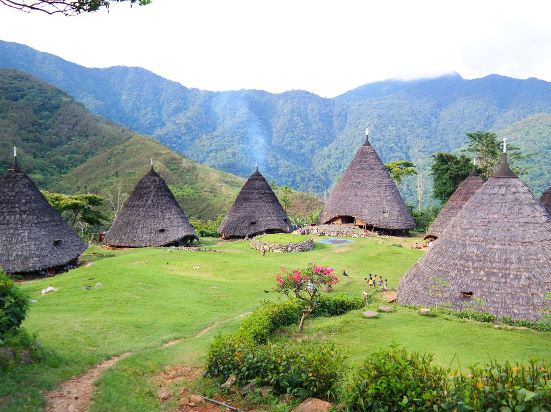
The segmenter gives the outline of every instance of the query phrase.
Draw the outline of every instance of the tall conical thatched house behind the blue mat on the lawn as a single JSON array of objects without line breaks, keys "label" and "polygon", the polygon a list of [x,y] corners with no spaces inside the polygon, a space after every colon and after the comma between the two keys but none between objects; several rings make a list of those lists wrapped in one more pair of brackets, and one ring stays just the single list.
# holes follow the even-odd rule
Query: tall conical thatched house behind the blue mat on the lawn
[{"label": "tall conical thatched house behind the blue mat on the lawn", "polygon": [[403,235],[415,227],[402,196],[369,143],[350,162],[317,219],[318,224],[352,224]]}]

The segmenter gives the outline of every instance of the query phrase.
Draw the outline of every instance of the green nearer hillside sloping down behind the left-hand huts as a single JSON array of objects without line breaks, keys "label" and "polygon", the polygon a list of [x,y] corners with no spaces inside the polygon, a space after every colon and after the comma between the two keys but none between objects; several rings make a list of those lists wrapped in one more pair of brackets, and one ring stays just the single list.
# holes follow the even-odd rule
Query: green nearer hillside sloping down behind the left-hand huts
[{"label": "green nearer hillside sloping down behind the left-hand huts", "polygon": [[[18,164],[40,189],[95,193],[116,200],[154,167],[188,217],[216,220],[245,179],[197,164],[157,140],[99,116],[60,89],[14,69],[0,69],[0,167]],[[253,170],[250,172],[252,173]],[[292,192],[289,213],[309,215],[321,201]],[[106,210],[109,210],[109,202]]]}]

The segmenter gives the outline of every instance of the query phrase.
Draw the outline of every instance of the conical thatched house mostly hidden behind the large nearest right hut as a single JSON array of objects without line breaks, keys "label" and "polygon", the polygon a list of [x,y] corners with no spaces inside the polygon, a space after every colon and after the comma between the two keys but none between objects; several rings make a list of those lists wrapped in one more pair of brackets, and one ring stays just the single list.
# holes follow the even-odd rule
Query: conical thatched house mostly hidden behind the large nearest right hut
[{"label": "conical thatched house mostly hidden behind the large nearest right hut", "polygon": [[467,203],[467,200],[469,200],[482,185],[484,185],[484,181],[480,178],[473,165],[471,174],[468,175],[455,192],[453,192],[423,238],[425,240],[435,240],[438,238],[450,221],[455,218]]}]

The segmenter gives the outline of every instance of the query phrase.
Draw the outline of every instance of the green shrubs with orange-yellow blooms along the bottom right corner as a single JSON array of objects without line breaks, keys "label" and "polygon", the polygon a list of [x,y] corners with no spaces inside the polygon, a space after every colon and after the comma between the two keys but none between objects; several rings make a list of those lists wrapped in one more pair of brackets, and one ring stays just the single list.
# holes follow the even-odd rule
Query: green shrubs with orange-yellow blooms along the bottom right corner
[{"label": "green shrubs with orange-yellow blooms along the bottom right corner", "polygon": [[403,348],[381,350],[353,373],[345,402],[350,412],[547,411],[551,408],[551,367],[532,360],[512,366],[490,362],[467,375],[430,364],[431,355]]}]

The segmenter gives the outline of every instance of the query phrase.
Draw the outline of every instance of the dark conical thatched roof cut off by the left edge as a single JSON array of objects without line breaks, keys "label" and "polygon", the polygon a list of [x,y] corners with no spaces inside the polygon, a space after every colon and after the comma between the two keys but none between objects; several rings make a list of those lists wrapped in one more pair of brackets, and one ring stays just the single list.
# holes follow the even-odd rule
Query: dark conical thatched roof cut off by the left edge
[{"label": "dark conical thatched roof cut off by the left edge", "polygon": [[0,177],[0,268],[26,274],[77,259],[88,245],[17,165]]}]

